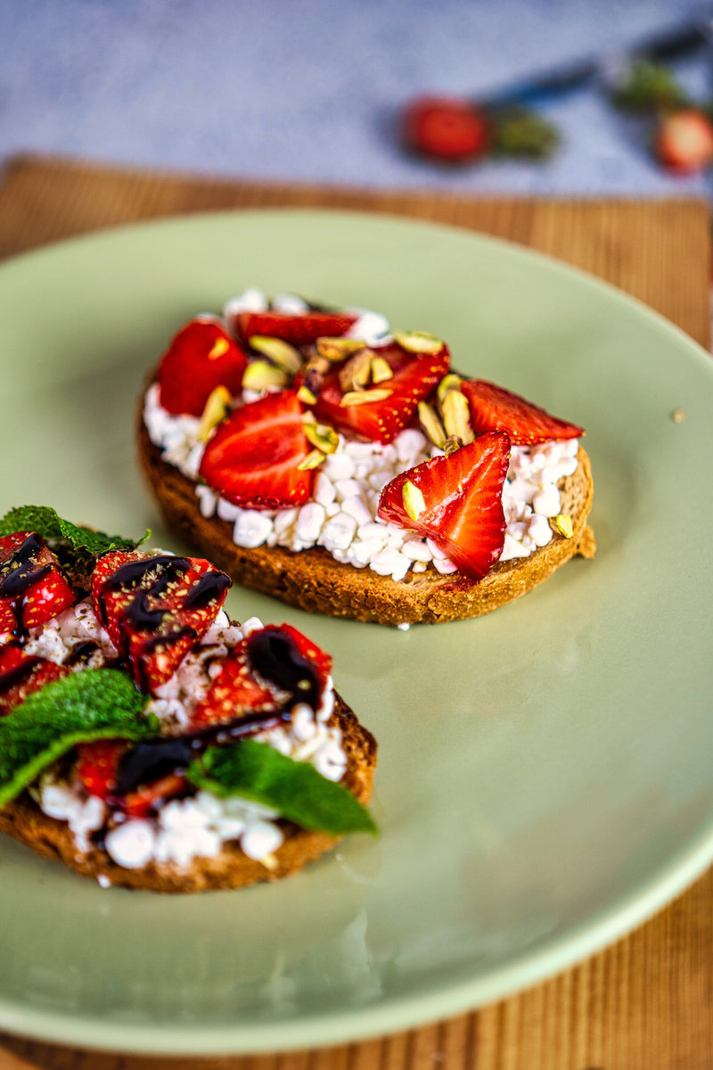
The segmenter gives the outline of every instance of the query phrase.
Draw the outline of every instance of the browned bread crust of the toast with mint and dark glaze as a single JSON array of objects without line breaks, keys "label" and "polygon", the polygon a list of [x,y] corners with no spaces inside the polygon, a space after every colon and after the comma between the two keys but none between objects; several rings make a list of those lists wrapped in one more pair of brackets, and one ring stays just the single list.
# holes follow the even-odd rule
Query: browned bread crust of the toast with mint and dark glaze
[{"label": "browned bread crust of the toast with mint and dark glaze", "polygon": [[[367,802],[376,764],[376,742],[339,696],[332,716],[342,730],[342,746],[346,751],[346,771],[341,782],[360,802]],[[106,878],[112,885],[126,888],[165,892],[243,888],[257,881],[277,881],[319,858],[339,841],[324,832],[309,832],[289,824],[270,869],[248,858],[237,844],[228,843],[217,857],[193,858],[188,866],[150,862],[141,869],[129,870],[117,866],[100,847],[93,847],[86,854],[78,851],[68,826],[43,813],[27,792],[0,810],[0,831],[25,843],[43,858],[64,862],[84,876]]]}]

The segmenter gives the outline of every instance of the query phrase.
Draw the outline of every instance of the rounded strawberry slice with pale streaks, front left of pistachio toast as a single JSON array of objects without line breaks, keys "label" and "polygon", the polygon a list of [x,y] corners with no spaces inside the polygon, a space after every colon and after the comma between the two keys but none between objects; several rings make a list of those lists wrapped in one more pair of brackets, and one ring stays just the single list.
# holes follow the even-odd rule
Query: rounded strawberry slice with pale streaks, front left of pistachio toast
[{"label": "rounded strawberry slice with pale streaks, front left of pistachio toast", "polygon": [[306,502],[314,472],[297,465],[311,450],[294,391],[235,409],[208,441],[200,476],[228,501],[251,509]]}]

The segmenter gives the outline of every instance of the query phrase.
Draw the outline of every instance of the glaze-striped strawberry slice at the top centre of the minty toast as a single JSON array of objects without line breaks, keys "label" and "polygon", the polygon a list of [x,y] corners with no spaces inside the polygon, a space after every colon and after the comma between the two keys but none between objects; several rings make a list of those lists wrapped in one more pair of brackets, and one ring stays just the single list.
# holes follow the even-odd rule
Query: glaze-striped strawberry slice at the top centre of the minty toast
[{"label": "glaze-striped strawberry slice at the top centre of the minty toast", "polygon": [[230,584],[200,557],[113,550],[92,574],[92,600],[137,685],[155,692],[208,630]]}]

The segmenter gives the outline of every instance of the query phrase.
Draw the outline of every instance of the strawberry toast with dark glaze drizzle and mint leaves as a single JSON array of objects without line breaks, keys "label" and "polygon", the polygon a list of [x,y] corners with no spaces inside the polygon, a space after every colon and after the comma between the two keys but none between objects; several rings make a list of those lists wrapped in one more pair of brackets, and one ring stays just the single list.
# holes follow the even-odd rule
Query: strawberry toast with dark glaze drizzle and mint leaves
[{"label": "strawberry toast with dark glaze drizzle and mint leaves", "polygon": [[376,744],[329,656],[230,622],[230,583],[47,507],[0,521],[0,830],[167,892],[288,876],[374,831]]}]

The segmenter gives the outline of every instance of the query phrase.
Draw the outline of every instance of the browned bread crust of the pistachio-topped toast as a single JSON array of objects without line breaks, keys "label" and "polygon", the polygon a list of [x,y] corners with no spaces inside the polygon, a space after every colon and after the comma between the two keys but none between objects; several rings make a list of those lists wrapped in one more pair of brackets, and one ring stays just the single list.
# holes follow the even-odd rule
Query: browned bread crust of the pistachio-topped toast
[{"label": "browned bread crust of the pistachio-topped toast", "polygon": [[180,532],[244,586],[311,613],[389,625],[461,621],[520,598],[570,557],[593,557],[596,550],[587,526],[593,495],[591,467],[582,446],[576,472],[560,483],[561,511],[572,517],[572,537],[554,532],[547,546],[529,557],[498,563],[476,582],[460,572],[441,576],[432,566],[396,581],[369,568],[342,564],[322,547],[296,553],[283,547],[235,546],[233,525],[201,516],[195,483],[164,461],[161,450],[151,442],[142,402],[138,444],[141,467],[169,529]]}]

